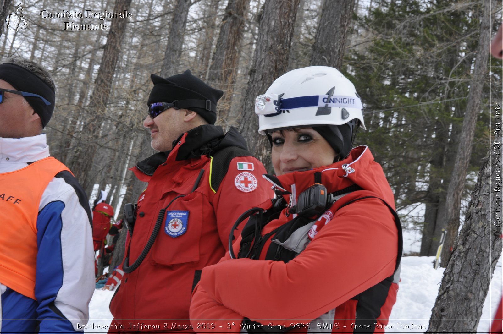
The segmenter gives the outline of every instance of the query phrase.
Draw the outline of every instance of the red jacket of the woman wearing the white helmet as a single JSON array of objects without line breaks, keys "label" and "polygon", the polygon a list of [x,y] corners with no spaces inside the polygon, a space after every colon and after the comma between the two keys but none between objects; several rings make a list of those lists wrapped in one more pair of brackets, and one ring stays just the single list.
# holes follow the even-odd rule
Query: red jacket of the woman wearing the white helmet
[{"label": "red jacket of the woman wearing the white helmet", "polygon": [[[344,164],[349,164],[346,170]],[[206,267],[193,293],[190,316],[195,328],[201,322],[211,325],[195,330],[239,331],[246,317],[276,328],[293,325],[296,330],[311,326],[311,330],[348,332],[360,325],[358,329],[383,331],[396,300],[399,278],[394,274],[401,256],[401,228],[381,201],[394,208],[392,191],[366,146],[354,148],[347,159],[328,167],[277,179],[296,202],[298,194],[315,183],[317,172],[329,193],[355,184],[364,190],[348,193],[334,203],[330,208],[333,217],[287,263],[226,255],[218,264]],[[367,196],[372,197],[363,198]],[[345,205],[355,199],[360,200]],[[261,235],[289,223],[294,216],[284,209]],[[240,241],[238,238],[233,246],[236,255]],[[265,259],[270,247],[269,239],[259,260]],[[321,315],[325,319],[318,323],[325,327],[317,328],[311,320]],[[362,318],[373,318],[372,328],[362,327],[368,324],[360,322]]]}]

